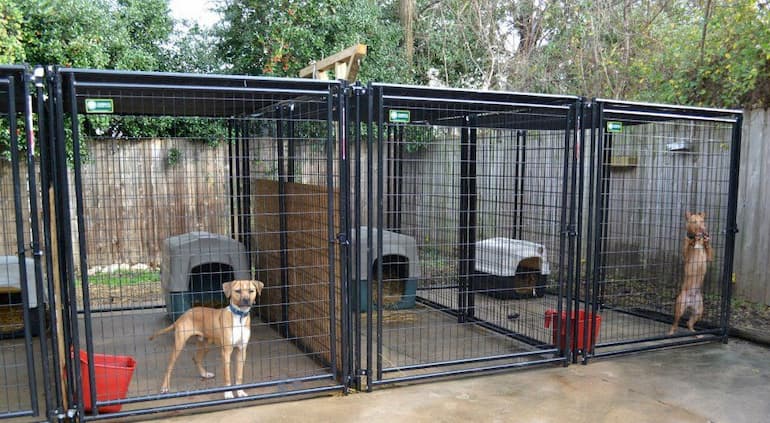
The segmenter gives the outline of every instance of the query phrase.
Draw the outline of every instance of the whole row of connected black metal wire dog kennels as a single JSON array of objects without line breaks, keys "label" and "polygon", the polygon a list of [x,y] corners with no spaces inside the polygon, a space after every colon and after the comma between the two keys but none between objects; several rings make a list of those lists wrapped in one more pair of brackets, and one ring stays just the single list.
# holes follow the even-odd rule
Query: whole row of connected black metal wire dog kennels
[{"label": "whole row of connected black metal wire dog kennels", "polygon": [[[726,339],[739,112],[57,68],[30,97],[32,82],[0,68],[14,182],[0,289],[23,321],[0,340],[2,417],[45,401],[49,419],[122,418]],[[688,211],[706,214],[715,257],[696,333],[668,335]],[[147,338],[247,278],[265,284],[250,396],[222,400],[218,354],[203,380],[182,364],[192,345],[160,393],[173,342]],[[92,375],[116,357],[131,376],[105,398]]]}]

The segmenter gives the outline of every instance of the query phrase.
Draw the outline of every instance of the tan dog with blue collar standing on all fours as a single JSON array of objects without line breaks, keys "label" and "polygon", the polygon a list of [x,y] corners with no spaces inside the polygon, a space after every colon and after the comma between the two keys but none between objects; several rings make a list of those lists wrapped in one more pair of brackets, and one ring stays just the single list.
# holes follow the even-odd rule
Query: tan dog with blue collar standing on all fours
[{"label": "tan dog with blue collar standing on all fours", "polygon": [[[206,355],[207,344],[216,344],[221,348],[222,363],[225,372],[225,386],[232,385],[230,380],[230,357],[233,349],[238,350],[235,359],[235,383],[243,383],[243,364],[246,361],[246,347],[251,337],[251,318],[249,310],[256,301],[257,295],[262,294],[262,288],[265,285],[260,281],[236,280],[222,284],[222,290],[230,301],[229,306],[221,309],[209,307],[193,307],[171,324],[161,329],[150,337],[150,340],[156,336],[174,332],[174,349],[171,351],[171,361],[168,363],[166,375],[163,377],[163,384],[160,387],[161,392],[168,392],[171,384],[171,371],[174,370],[174,363],[182,352],[187,340],[196,336],[198,338],[198,350],[193,360],[198,366],[198,372],[202,378],[212,378],[214,374],[207,372],[203,367],[203,358]],[[245,397],[247,394],[243,390],[238,390],[239,397]],[[232,391],[225,392],[225,398],[233,398]]]}]

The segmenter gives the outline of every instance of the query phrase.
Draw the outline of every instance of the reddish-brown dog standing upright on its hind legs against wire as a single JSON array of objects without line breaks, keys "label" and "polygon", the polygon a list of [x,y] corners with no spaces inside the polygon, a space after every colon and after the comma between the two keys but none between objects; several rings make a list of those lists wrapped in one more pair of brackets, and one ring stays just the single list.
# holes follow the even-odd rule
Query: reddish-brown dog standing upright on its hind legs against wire
[{"label": "reddish-brown dog standing upright on its hind legs against wire", "polygon": [[687,328],[695,331],[695,323],[703,316],[703,280],[708,262],[714,258],[711,238],[706,230],[706,213],[685,213],[687,237],[684,240],[684,280],[674,307],[674,323],[669,335],[679,327],[679,319],[689,309]]}]

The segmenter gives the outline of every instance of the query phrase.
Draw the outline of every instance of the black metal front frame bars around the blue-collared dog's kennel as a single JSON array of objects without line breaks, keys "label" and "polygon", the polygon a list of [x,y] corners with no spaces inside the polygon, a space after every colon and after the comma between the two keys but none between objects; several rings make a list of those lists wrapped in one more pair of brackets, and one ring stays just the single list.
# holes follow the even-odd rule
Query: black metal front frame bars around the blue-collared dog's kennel
[{"label": "black metal front frame bars around the blue-collared dog's kennel", "polygon": [[[235,94],[235,95],[243,95],[244,97],[242,99],[247,99],[248,95],[251,94],[263,94],[263,95],[270,95],[271,101],[275,103],[275,101],[278,101],[278,109],[275,109],[278,113],[266,113],[266,110],[264,108],[260,109],[253,109],[247,112],[246,117],[250,117],[252,114],[257,115],[259,117],[267,117],[269,119],[276,120],[277,122],[281,122],[281,108],[284,107],[286,104],[292,104],[293,101],[297,99],[302,99],[303,96],[321,96],[326,98],[326,102],[324,103],[325,107],[323,110],[320,110],[320,114],[316,116],[318,119],[326,119],[329,122],[329,125],[327,125],[327,131],[326,131],[326,143],[327,143],[327,185],[329,183],[333,183],[335,180],[335,177],[331,173],[332,170],[332,163],[331,163],[331,157],[333,157],[334,152],[334,145],[333,145],[333,133],[334,129],[332,127],[332,123],[334,122],[334,118],[337,117],[337,112],[339,112],[339,108],[336,104],[336,102],[339,100],[340,96],[338,93],[335,92],[336,87],[338,85],[337,82],[334,81],[308,81],[308,80],[301,80],[301,79],[280,79],[280,78],[262,78],[262,77],[231,77],[231,76],[200,76],[200,75],[192,75],[192,74],[166,74],[166,73],[154,73],[154,72],[122,72],[122,71],[101,71],[101,70],[88,70],[88,69],[51,69],[50,75],[49,75],[52,84],[49,87],[49,92],[54,92],[55,95],[52,97],[52,103],[56,104],[57,106],[57,112],[55,113],[55,119],[56,124],[55,127],[57,128],[57,137],[54,137],[54,145],[57,148],[56,156],[57,156],[57,165],[55,166],[57,174],[60,176],[59,180],[56,182],[56,186],[61,191],[58,192],[57,201],[57,220],[64,222],[65,225],[62,225],[63,227],[60,229],[60,234],[66,234],[71,233],[71,228],[69,228],[66,223],[69,222],[69,208],[67,206],[67,199],[69,198],[69,193],[67,192],[67,182],[66,182],[66,156],[65,151],[63,148],[65,135],[64,135],[64,119],[63,116],[65,114],[69,114],[72,117],[72,121],[70,122],[70,130],[72,131],[72,136],[75,142],[73,142],[73,153],[75,154],[75,157],[79,157],[79,134],[78,134],[78,115],[79,110],[81,110],[83,96],[91,95],[92,93],[104,93],[107,92],[109,94],[99,94],[99,95],[109,95],[111,97],[117,97],[120,96],[120,93],[124,92],[130,92],[135,94],[137,90],[140,90],[140,92],[143,93],[163,93],[163,92],[188,92],[188,93],[198,93],[202,95],[208,95],[209,97],[205,98],[205,101],[208,101],[207,105],[211,106],[212,104],[216,105],[219,103],[226,103],[226,99],[230,99],[229,97],[220,97],[223,95],[228,94]],[[137,82],[139,81],[139,82]],[[287,86],[291,88],[286,88]],[[144,90],[144,91],[142,91]],[[280,96],[279,100],[275,100],[275,97]],[[179,108],[179,107],[168,107],[168,101],[158,101],[153,104],[153,107],[147,108],[145,107],[146,104],[143,102],[144,98],[142,98],[142,95],[136,95],[135,98],[128,96],[128,97],[121,97],[121,100],[128,99],[125,103],[121,104],[121,110],[118,113],[115,113],[116,115],[128,115],[128,116],[188,116],[188,117],[216,117],[216,118],[237,118],[242,116],[243,110],[236,110],[236,107],[228,108],[225,105],[222,108],[207,108],[203,107],[203,110],[208,110],[206,113],[201,113],[201,104],[196,102],[186,102],[185,107]],[[138,100],[136,100],[138,99]],[[158,99],[157,97],[154,97],[154,99]],[[168,100],[166,97],[161,98],[161,100]],[[173,99],[171,100],[174,101]],[[205,102],[204,101],[204,102]],[[251,103],[250,103],[251,104]],[[214,110],[213,112],[211,110]],[[169,112],[172,111],[172,112]],[[237,113],[236,113],[237,112]],[[248,131],[246,128],[231,128],[231,131],[229,132],[230,135],[236,135],[240,134],[243,135],[244,131]],[[244,138],[241,136],[240,138]],[[243,144],[243,145],[240,145]],[[340,149],[344,149],[344,147],[340,146]],[[240,149],[247,148],[245,145],[245,141],[243,143],[236,143],[236,145],[233,147],[236,151]],[[290,147],[291,148],[291,147]],[[232,150],[230,150],[232,151]],[[231,156],[232,160],[232,156]],[[235,167],[236,173],[237,172],[248,172],[248,163],[240,163],[239,160],[235,160]],[[232,164],[232,163],[231,163]],[[290,168],[293,169],[293,161],[290,163]],[[78,210],[78,226],[80,228],[83,228],[83,193],[82,193],[82,180],[80,179],[80,161],[75,160],[74,163],[74,172],[75,172],[75,189],[76,189],[76,208]],[[238,185],[241,183],[238,181],[239,178],[237,178],[237,175],[231,175],[231,178],[235,176],[236,181],[232,181],[231,179],[231,187],[238,187]],[[283,178],[284,176],[282,176]],[[62,182],[64,181],[64,182]],[[285,181],[284,181],[285,182]],[[235,184],[235,185],[233,185]],[[246,186],[248,186],[248,183],[246,183]],[[235,400],[235,401],[229,401],[229,402],[242,402],[242,401],[249,401],[254,399],[260,399],[260,398],[273,398],[281,395],[300,395],[300,394],[306,394],[306,393],[317,393],[317,392],[328,392],[328,391],[334,391],[334,390],[340,390],[344,389],[344,378],[343,383],[335,381],[335,379],[339,376],[337,375],[338,369],[337,369],[337,354],[340,352],[337,351],[337,345],[336,345],[336,310],[335,310],[335,284],[334,284],[334,256],[335,256],[335,249],[337,248],[337,245],[332,240],[334,239],[332,235],[332,227],[331,227],[331,219],[333,217],[333,208],[336,206],[333,204],[334,195],[333,192],[331,192],[332,185],[328,185],[329,193],[327,196],[327,201],[329,202],[328,207],[328,219],[329,219],[329,234],[330,235],[330,242],[329,242],[329,256],[332,260],[330,262],[330,269],[329,269],[329,275],[330,275],[330,287],[329,287],[329,305],[330,305],[330,354],[331,362],[329,364],[330,367],[330,373],[326,375],[320,375],[320,376],[308,376],[308,377],[300,377],[300,378],[294,378],[291,381],[292,382],[302,382],[302,381],[314,381],[314,380],[321,380],[321,379],[328,379],[332,383],[328,386],[324,387],[318,387],[318,388],[310,388],[310,389],[297,389],[294,391],[287,391],[285,393],[280,394],[266,394],[266,395],[254,395],[251,397],[247,397],[241,400]],[[231,206],[234,204],[231,203]],[[248,202],[246,203],[240,203],[234,205],[238,209],[242,208],[250,208]],[[231,219],[231,225],[234,225],[236,222]],[[242,222],[241,222],[242,223]],[[67,240],[66,238],[62,238],[62,236],[59,236],[59,239],[65,239],[66,245],[68,247],[65,247],[61,249],[62,254],[64,250],[69,249],[71,251],[72,249],[72,242],[71,240]],[[85,235],[84,232],[81,230],[79,231],[79,247],[80,247],[80,266],[81,268],[85,268],[87,265],[87,253],[86,253],[86,243],[85,243]],[[344,254],[343,254],[344,257]],[[74,263],[72,262],[72,256],[66,255],[66,257],[63,257],[66,261],[66,263],[63,265],[63,269],[61,270],[61,273],[65,276],[65,280],[68,281],[67,285],[67,292],[66,294],[74,298],[74,292],[75,292],[75,272],[74,272]],[[89,374],[91,375],[91,379],[94,378],[94,364],[93,364],[93,334],[92,329],[90,326],[91,323],[91,313],[93,312],[90,307],[90,300],[89,295],[87,293],[87,287],[88,287],[88,275],[83,273],[81,275],[81,282],[83,284],[83,290],[84,290],[84,301],[83,301],[83,315],[84,315],[84,321],[85,321],[85,332],[84,337],[86,339],[86,355],[88,356],[88,365],[89,365]],[[77,310],[77,305],[75,304],[75,301],[70,302],[72,304],[71,309],[68,310],[68,313],[66,315],[67,319],[67,325],[66,325],[66,333],[64,338],[67,338],[68,340],[71,340],[71,347],[72,350],[75,353],[75,357],[79,355],[79,335],[78,335],[78,328],[77,328],[77,316],[79,314],[79,311]],[[343,342],[342,346],[343,349],[345,349],[345,343]],[[344,360],[344,359],[343,359]],[[77,362],[76,359],[66,359],[67,361],[67,367],[68,367],[68,379],[75,382],[74,388],[70,388],[69,394],[66,396],[71,398],[76,398],[77,405],[74,407],[69,407],[67,410],[67,413],[76,415],[78,414],[77,410],[82,409],[83,406],[83,397],[84,394],[82,392],[82,380],[80,378],[80,372],[78,371],[80,364]],[[344,361],[343,361],[344,362]],[[264,386],[274,386],[274,385],[280,385],[282,383],[286,383],[285,380],[281,381],[275,381],[275,382],[257,382],[252,384],[244,384],[242,386],[237,387],[228,387],[228,388],[213,388],[213,389],[202,389],[202,390],[196,390],[195,394],[206,394],[206,393],[216,393],[216,392],[222,392],[225,390],[230,390],[233,388],[251,388],[251,387],[264,387]],[[93,380],[91,380],[90,383],[91,386],[91,398],[96,398],[95,395],[95,383],[93,383]],[[111,401],[93,401],[93,415],[81,415],[81,418],[84,420],[98,420],[102,418],[115,418],[115,417],[124,417],[124,416],[133,416],[133,415],[144,415],[148,413],[154,413],[159,411],[170,411],[173,409],[183,409],[183,408],[189,408],[191,405],[196,406],[208,406],[208,405],[215,405],[215,404],[222,404],[228,401],[203,401],[200,403],[195,404],[180,404],[179,406],[164,406],[164,407],[148,407],[143,409],[136,409],[136,410],[129,410],[129,411],[121,411],[116,413],[110,413],[109,415],[100,415],[98,413],[98,408],[105,405],[115,405],[115,404],[128,404],[128,403],[135,403],[135,402],[141,402],[141,401],[150,401],[150,400],[156,400],[156,399],[163,399],[163,398],[173,398],[173,397],[183,397],[187,394],[172,394],[168,396],[145,396],[145,397],[134,397],[134,398],[127,398],[124,400],[111,400]]]}]

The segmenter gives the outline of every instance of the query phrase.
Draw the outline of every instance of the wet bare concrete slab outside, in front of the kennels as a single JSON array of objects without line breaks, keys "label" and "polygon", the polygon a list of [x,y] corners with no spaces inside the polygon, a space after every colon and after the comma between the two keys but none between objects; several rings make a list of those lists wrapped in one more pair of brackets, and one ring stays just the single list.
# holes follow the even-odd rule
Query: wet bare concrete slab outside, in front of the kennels
[{"label": "wet bare concrete slab outside, in front of the kennels", "polygon": [[[437,380],[155,422],[766,422],[770,349],[710,343],[497,375]],[[181,414],[181,413],[180,413]]]}]

